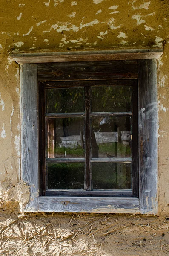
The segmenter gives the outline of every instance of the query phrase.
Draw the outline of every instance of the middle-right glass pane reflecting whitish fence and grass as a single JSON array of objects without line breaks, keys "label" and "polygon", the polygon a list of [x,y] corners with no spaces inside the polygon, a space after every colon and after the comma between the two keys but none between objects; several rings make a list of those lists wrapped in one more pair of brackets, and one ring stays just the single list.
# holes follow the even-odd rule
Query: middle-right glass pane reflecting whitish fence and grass
[{"label": "middle-right glass pane reflecting whitish fence and grass", "polygon": [[92,116],[92,157],[131,157],[131,117]]}]

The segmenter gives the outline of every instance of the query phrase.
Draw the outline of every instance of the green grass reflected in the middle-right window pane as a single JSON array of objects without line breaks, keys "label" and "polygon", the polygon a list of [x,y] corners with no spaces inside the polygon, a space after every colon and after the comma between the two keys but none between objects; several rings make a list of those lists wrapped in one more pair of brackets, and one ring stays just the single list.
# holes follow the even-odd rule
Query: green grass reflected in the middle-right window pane
[{"label": "green grass reflected in the middle-right window pane", "polygon": [[[115,155],[116,154],[116,143],[103,143],[103,144],[99,144],[99,153],[107,153],[110,155]],[[131,149],[129,145],[123,145],[121,143],[117,142],[117,154],[121,154],[121,155],[130,155],[131,154]]]}]

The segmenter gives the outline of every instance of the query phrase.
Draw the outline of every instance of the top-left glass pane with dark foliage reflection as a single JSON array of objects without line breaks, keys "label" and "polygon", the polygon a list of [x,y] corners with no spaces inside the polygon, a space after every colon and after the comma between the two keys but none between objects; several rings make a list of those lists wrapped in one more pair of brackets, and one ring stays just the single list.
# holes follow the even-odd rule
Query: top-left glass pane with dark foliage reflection
[{"label": "top-left glass pane with dark foliage reflection", "polygon": [[84,88],[46,89],[46,113],[84,112]]}]

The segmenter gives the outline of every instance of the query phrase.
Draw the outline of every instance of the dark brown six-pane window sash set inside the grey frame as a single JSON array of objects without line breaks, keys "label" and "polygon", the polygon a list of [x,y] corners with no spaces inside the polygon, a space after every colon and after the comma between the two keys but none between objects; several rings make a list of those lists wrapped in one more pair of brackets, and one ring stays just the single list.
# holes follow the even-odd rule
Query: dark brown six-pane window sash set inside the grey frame
[{"label": "dark brown six-pane window sash set inside the grey frame", "polygon": [[39,83],[41,195],[138,195],[137,83]]}]

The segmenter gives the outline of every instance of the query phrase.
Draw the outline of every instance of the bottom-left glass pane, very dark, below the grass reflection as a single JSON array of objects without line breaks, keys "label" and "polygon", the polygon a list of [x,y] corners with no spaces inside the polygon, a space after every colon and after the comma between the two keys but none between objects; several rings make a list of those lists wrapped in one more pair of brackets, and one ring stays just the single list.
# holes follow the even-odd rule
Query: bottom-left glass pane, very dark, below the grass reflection
[{"label": "bottom-left glass pane, very dark, below the grass reflection", "polygon": [[48,189],[84,189],[85,163],[47,163]]}]

